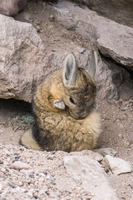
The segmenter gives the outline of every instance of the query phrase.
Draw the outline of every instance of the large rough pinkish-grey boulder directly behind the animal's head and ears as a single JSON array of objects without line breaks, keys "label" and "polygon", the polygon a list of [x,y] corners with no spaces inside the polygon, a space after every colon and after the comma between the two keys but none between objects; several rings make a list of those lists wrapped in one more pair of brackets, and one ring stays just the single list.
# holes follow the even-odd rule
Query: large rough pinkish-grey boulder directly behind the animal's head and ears
[{"label": "large rough pinkish-grey boulder directly behind the animal's head and ears", "polygon": [[[65,56],[70,52],[75,54],[79,67],[89,66],[91,49],[94,48],[91,45],[89,50],[70,40],[67,45],[54,45],[52,51],[46,45],[44,47],[30,23],[0,15],[0,27],[0,98],[31,102],[35,87],[47,74],[61,68]],[[62,40],[61,44],[65,44],[65,41]],[[97,57],[98,96],[117,98],[112,71],[98,54]]]}]

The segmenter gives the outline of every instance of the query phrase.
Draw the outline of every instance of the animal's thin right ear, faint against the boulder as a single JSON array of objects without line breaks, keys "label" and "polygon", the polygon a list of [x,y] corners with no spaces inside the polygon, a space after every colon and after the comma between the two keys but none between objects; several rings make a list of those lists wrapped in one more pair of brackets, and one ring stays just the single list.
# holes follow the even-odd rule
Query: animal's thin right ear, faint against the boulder
[{"label": "animal's thin right ear, faint against the boulder", "polygon": [[88,74],[92,77],[95,78],[96,75],[96,68],[97,68],[97,52],[92,51],[92,55],[90,58],[89,66],[87,69]]}]

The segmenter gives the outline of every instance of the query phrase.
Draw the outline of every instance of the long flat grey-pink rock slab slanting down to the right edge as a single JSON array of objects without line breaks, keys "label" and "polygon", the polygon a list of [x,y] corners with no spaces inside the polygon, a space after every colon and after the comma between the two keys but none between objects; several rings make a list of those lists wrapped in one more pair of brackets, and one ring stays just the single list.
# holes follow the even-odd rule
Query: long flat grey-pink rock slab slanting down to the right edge
[{"label": "long flat grey-pink rock slab slanting down to the right edge", "polygon": [[54,10],[59,23],[96,43],[103,55],[133,70],[132,28],[68,1],[60,1]]}]

